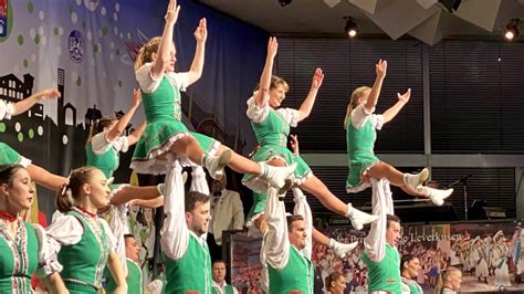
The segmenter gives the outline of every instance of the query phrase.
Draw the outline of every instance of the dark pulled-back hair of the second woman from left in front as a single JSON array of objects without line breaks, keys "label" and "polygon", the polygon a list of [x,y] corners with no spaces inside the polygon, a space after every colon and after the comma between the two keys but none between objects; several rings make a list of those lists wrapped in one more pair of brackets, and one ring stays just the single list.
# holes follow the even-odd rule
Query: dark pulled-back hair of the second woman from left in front
[{"label": "dark pulled-back hair of the second woman from left in front", "polygon": [[66,182],[61,187],[56,195],[56,209],[65,213],[71,210],[75,201],[81,197],[82,188],[90,183],[95,167],[81,167],[71,171]]}]

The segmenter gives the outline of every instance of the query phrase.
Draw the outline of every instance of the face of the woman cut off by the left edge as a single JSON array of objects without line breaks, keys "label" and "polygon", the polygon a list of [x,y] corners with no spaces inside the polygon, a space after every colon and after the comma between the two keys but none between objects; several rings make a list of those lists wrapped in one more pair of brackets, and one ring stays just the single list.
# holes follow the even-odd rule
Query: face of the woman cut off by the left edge
[{"label": "face of the woman cut off by the left edge", "polygon": [[18,170],[11,176],[11,182],[2,182],[1,201],[7,202],[10,213],[18,213],[24,209],[31,208],[33,202],[34,188],[31,183],[31,177],[25,168],[17,168]]}]

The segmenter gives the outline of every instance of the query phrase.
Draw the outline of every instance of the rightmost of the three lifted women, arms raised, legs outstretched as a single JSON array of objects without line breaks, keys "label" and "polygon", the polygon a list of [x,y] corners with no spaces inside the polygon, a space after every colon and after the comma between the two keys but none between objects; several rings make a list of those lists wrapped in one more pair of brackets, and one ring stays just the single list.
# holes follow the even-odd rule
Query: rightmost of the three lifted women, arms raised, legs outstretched
[{"label": "rightmost of the three lifted women, arms raised, legs outstretched", "polygon": [[382,81],[386,76],[386,70],[387,62],[380,60],[375,66],[377,77],[373,87],[363,86],[356,88],[347,106],[344,119],[349,162],[346,190],[347,192],[358,192],[370,186],[370,178],[386,178],[407,193],[428,197],[434,204],[441,206],[443,200],[453,192],[453,189],[438,190],[422,187],[421,185],[429,177],[428,169],[425,168],[417,175],[402,174],[395,167],[380,161],[375,156],[376,129],[380,129],[384,124],[394,119],[411,96],[411,90],[408,88],[405,94],[398,94],[398,102],[382,115],[374,114],[375,105],[382,87]]}]

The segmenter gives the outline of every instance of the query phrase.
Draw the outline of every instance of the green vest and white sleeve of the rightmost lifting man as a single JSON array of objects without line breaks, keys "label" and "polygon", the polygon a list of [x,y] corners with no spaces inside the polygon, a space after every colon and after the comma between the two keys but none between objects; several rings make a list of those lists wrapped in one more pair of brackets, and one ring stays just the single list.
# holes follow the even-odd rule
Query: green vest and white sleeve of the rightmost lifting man
[{"label": "green vest and white sleeve of the rightmost lifting man", "polygon": [[361,259],[368,269],[368,292],[387,291],[402,293],[400,279],[400,255],[397,249],[386,242],[387,214],[394,214],[391,190],[386,179],[371,178],[373,214],[379,219],[364,240]]}]

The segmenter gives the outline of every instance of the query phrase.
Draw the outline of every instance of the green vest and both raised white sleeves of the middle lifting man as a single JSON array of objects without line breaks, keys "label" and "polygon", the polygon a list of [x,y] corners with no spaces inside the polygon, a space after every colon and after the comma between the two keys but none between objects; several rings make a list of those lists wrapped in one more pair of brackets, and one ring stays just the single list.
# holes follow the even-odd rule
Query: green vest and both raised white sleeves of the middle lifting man
[{"label": "green vest and both raised white sleeves of the middle lifting man", "polygon": [[298,188],[293,188],[295,196],[294,214],[304,218],[307,225],[306,245],[298,250],[290,242],[287,220],[283,201],[279,201],[276,189],[268,190],[265,220],[268,233],[262,251],[268,264],[268,293],[290,293],[300,291],[303,294],[314,293],[314,272],[311,262],[312,254],[312,213],[305,196]]}]

